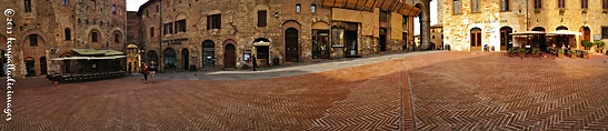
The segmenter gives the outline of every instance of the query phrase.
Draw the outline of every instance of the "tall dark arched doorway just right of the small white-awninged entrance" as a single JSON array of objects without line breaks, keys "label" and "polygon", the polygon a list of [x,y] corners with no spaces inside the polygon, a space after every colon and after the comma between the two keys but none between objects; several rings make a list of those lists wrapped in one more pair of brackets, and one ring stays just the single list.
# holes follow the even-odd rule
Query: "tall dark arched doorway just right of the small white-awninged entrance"
[{"label": "tall dark arched doorway just right of the small white-awninged entrance", "polygon": [[296,28],[285,30],[285,57],[288,62],[299,61],[298,30]]}]

